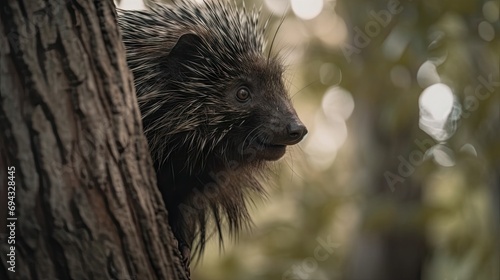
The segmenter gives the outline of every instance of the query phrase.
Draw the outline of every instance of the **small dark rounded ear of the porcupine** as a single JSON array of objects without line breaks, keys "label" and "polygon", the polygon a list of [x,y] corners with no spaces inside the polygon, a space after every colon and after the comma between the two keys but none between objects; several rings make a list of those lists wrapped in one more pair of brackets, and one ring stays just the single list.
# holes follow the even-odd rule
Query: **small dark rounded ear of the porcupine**
[{"label": "small dark rounded ear of the porcupine", "polygon": [[192,33],[181,35],[172,50],[168,53],[165,66],[172,76],[182,75],[182,65],[199,60],[198,47],[202,44],[200,36]]}]

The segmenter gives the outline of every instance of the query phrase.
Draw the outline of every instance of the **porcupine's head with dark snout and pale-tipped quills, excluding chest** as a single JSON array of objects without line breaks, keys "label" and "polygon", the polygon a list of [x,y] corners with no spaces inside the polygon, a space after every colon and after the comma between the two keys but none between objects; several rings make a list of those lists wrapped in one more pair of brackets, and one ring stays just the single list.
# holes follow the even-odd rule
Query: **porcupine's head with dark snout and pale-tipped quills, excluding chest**
[{"label": "porcupine's head with dark snout and pale-tipped quills, excluding chest", "polygon": [[307,133],[281,63],[263,54],[258,13],[181,1],[124,14],[120,25],[155,165],[175,152],[191,174],[273,161]]}]

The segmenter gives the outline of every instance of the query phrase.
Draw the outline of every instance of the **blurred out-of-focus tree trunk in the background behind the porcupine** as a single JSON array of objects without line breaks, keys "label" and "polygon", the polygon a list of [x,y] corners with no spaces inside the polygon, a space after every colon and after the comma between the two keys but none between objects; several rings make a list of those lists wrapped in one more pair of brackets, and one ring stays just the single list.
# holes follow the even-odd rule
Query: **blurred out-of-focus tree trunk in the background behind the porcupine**
[{"label": "blurred out-of-focus tree trunk in the background behind the porcupine", "polygon": [[[349,59],[357,60],[358,66],[353,62],[340,68],[349,69],[346,70],[346,76],[363,80],[362,83],[356,82],[347,87],[354,93],[356,104],[356,112],[350,121],[354,123],[353,127],[358,128],[360,139],[367,139],[360,141],[357,147],[361,167],[369,170],[360,181],[360,188],[363,188],[367,201],[363,205],[360,229],[353,241],[355,245],[349,253],[346,276],[343,279],[420,280],[429,255],[428,241],[423,230],[425,225],[418,220],[418,212],[415,210],[422,209],[422,185],[415,176],[405,177],[403,182],[395,184],[387,180],[385,175],[392,172],[395,176],[402,176],[398,173],[399,157],[407,157],[415,150],[412,146],[415,139],[432,142],[414,123],[419,118],[418,107],[407,106],[418,104],[418,93],[408,92],[403,95],[397,88],[388,90],[392,85],[386,83],[387,73],[391,71],[394,62],[386,58],[379,59],[385,57],[382,44],[389,32],[396,23],[404,23],[397,18],[403,4],[397,1],[372,0],[361,3],[339,1],[337,6],[348,19],[348,30],[354,30],[349,43],[359,48],[359,54],[354,53],[356,57],[349,56]],[[360,12],[360,6],[366,6],[370,12]],[[387,26],[383,25],[385,28],[377,31],[377,35],[366,37],[366,41],[366,38],[357,37],[359,31],[356,30],[366,32],[370,24],[379,24],[373,20],[376,12],[389,15]],[[380,17],[379,14],[376,16]],[[425,59],[425,55],[422,53],[423,57],[412,57],[413,61],[410,63],[398,63],[419,65],[419,60]],[[348,62],[351,63],[351,60]],[[356,70],[348,73],[352,69]],[[396,112],[400,108],[405,108],[406,111],[398,115]],[[406,117],[401,118],[402,115]],[[389,122],[388,116],[393,117],[394,121]],[[385,220],[382,221],[377,215]]]}]

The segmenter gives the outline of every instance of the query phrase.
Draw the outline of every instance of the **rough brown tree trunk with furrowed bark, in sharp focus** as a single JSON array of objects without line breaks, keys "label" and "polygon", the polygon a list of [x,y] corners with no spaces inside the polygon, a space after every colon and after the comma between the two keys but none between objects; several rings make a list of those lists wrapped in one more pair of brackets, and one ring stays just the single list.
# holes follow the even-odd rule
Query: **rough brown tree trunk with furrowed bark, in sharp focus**
[{"label": "rough brown tree trunk with furrowed bark, in sharp focus", "polygon": [[188,279],[113,1],[2,1],[0,79],[0,279]]}]

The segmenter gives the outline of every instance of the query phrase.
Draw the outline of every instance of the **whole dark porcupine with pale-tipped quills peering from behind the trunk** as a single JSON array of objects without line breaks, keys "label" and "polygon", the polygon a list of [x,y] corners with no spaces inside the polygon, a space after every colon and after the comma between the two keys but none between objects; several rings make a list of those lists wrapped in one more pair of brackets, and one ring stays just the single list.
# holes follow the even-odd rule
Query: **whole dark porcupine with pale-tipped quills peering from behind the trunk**
[{"label": "whole dark porcupine with pale-tipped quills peering from behind the trunk", "polygon": [[203,251],[210,218],[221,242],[224,221],[233,234],[249,223],[246,200],[265,193],[265,163],[307,133],[282,62],[263,53],[258,16],[220,0],[118,13],[158,186],[186,262],[192,249]]}]

